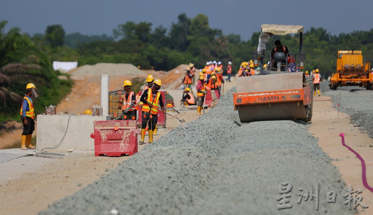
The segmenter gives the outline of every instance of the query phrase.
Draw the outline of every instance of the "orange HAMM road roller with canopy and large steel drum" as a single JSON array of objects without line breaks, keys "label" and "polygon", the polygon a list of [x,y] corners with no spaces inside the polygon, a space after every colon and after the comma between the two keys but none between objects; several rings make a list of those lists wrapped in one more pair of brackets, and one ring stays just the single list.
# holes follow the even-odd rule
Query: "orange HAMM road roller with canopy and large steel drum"
[{"label": "orange HAMM road roller with canopy and large steel drum", "polygon": [[[265,51],[269,37],[286,34],[299,35],[299,53],[289,52],[285,46],[272,54]],[[238,111],[242,123],[291,119],[311,121],[313,80],[302,71],[305,63],[302,46],[302,25],[261,25],[258,48],[252,56],[254,67],[260,70],[257,69],[255,75],[238,77],[237,90],[233,93],[234,110]]]}]

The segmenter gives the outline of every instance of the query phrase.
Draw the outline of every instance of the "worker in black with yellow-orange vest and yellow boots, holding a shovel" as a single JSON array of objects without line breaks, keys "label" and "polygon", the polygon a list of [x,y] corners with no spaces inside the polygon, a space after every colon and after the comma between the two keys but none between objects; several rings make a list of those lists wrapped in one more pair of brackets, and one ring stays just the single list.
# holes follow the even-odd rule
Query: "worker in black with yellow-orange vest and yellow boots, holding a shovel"
[{"label": "worker in black with yellow-orange vest and yellow boots, holding a shovel", "polygon": [[[147,89],[141,95],[140,101],[142,105],[142,125],[141,125],[141,140],[140,143],[144,143],[145,132],[148,130],[149,143],[153,142],[153,131],[156,128],[158,108],[166,113],[164,110],[163,98],[159,89],[162,86],[162,82],[159,79],[154,80],[153,87]],[[148,127],[147,127],[148,125]]]}]

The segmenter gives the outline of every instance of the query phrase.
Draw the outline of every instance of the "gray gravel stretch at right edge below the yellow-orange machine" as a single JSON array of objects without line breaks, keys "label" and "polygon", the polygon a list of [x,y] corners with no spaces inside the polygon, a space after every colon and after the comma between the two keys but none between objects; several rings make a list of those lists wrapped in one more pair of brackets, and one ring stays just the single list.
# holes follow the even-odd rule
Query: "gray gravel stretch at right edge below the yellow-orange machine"
[{"label": "gray gravel stretch at right edge below the yellow-orange machine", "polygon": [[332,97],[335,105],[341,94],[339,111],[347,113],[351,123],[360,126],[360,130],[373,138],[373,91],[358,86],[342,86],[331,90],[327,82],[321,83],[320,89],[324,95]]}]

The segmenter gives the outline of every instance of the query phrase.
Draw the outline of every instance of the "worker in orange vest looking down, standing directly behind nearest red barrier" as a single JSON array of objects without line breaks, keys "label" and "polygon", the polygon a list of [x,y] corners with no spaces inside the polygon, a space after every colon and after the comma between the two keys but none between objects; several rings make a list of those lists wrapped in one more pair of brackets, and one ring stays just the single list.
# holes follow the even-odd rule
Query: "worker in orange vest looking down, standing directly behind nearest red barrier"
[{"label": "worker in orange vest looking down, standing directly behind nearest red barrier", "polygon": [[122,119],[123,120],[136,120],[136,95],[134,91],[131,91],[132,83],[130,80],[125,80],[123,82],[123,89],[126,91],[126,94],[123,98],[123,106],[122,106]]}]

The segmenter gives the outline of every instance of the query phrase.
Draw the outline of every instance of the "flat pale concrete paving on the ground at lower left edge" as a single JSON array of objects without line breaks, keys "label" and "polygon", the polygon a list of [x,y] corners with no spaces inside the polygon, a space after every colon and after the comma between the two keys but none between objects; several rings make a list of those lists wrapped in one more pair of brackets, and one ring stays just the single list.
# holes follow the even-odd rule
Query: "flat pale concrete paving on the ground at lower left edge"
[{"label": "flat pale concrete paving on the ground at lower left edge", "polygon": [[0,164],[0,183],[53,160],[54,158],[23,156],[3,162]]}]

